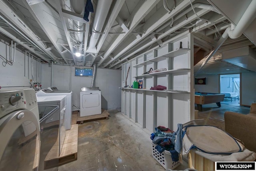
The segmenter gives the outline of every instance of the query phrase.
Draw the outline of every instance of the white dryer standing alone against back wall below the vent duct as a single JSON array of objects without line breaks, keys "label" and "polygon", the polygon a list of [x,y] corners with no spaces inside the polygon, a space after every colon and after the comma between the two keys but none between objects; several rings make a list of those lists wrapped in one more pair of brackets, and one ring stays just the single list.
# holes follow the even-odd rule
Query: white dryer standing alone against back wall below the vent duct
[{"label": "white dryer standing alone against back wall below the vent duct", "polygon": [[80,116],[101,114],[99,87],[82,87],[80,92]]}]

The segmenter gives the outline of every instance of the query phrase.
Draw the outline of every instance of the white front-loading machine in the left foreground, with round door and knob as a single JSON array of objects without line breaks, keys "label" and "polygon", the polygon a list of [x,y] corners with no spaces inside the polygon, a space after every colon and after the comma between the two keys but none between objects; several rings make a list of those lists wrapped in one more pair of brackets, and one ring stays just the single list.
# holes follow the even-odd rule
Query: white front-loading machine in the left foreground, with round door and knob
[{"label": "white front-loading machine in the left foreground, with round door and knob", "polygon": [[39,113],[34,89],[0,89],[0,170],[36,171]]}]

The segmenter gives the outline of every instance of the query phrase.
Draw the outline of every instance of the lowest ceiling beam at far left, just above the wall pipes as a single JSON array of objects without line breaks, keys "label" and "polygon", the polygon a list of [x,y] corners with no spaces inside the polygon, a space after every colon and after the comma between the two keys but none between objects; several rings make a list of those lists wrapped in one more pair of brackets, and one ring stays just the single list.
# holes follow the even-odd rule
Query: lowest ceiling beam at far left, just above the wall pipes
[{"label": "lowest ceiling beam at far left, just above the wall pipes", "polygon": [[30,46],[28,46],[27,44],[24,44],[23,42],[21,42],[17,36],[13,36],[12,34],[10,34],[10,32],[8,32],[7,30],[5,30],[4,28],[0,27],[0,32],[2,32],[2,34],[5,34],[6,36],[8,36],[9,38],[11,38],[12,40],[14,40],[15,42],[17,42],[18,44],[20,44],[21,46],[23,46],[24,48],[26,48],[27,50],[29,50],[30,52],[33,52],[35,56],[38,56],[40,58],[42,58],[42,60],[45,60],[46,62],[50,63],[51,59],[47,59],[45,56],[36,53],[36,51],[31,48]]}]

